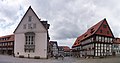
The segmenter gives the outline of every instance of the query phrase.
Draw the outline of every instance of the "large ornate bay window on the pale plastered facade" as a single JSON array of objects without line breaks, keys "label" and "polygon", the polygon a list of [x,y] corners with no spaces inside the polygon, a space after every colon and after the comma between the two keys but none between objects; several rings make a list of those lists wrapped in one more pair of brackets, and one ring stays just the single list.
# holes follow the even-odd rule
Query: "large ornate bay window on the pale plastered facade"
[{"label": "large ornate bay window on the pale plastered facade", "polygon": [[34,52],[35,49],[35,33],[27,32],[25,33],[25,52]]}]

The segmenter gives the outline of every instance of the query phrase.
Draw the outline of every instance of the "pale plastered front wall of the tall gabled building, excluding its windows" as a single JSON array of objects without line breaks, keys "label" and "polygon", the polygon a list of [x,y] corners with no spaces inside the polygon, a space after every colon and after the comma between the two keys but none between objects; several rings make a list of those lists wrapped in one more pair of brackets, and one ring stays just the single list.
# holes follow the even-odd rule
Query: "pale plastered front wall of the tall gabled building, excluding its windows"
[{"label": "pale plastered front wall of the tall gabled building, excluding its windows", "polygon": [[[28,17],[32,16],[32,20],[29,22]],[[35,28],[28,29],[28,24],[36,24]],[[26,28],[24,29],[24,25]],[[34,32],[35,33],[35,50],[34,52],[25,52],[25,33]],[[15,44],[14,44],[14,55],[19,57],[20,55],[24,57],[35,57],[39,56],[40,58],[47,58],[47,30],[40,22],[37,15],[30,7],[23,19],[19,23],[18,27],[15,30]],[[19,53],[19,54],[18,54]]]}]

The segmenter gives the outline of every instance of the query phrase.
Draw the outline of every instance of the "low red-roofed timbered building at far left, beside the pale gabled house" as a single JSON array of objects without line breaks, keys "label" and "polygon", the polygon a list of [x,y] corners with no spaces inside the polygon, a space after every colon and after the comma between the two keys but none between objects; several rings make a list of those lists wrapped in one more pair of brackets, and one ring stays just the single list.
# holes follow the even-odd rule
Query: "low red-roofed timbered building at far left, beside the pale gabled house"
[{"label": "low red-roofed timbered building at far left, beside the pale gabled house", "polygon": [[12,55],[14,53],[14,35],[0,37],[0,54]]}]

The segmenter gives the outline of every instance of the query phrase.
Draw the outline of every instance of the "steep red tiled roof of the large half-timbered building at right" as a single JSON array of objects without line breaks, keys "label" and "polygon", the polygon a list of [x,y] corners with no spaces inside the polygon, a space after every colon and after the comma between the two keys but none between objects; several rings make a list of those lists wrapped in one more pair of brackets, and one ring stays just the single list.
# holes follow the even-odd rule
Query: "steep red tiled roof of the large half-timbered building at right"
[{"label": "steep red tiled roof of the large half-timbered building at right", "polygon": [[[103,25],[104,23],[108,26],[108,30],[109,30],[110,34],[98,33],[98,30],[100,30],[100,29],[102,28],[102,25]],[[105,30],[105,29],[103,29],[103,30]],[[105,30],[105,31],[106,31],[106,30]],[[97,24],[95,24],[94,26],[92,26],[91,28],[89,28],[89,29],[87,30],[87,32],[85,32],[84,34],[82,34],[81,36],[79,36],[79,37],[76,39],[76,41],[75,41],[75,43],[73,44],[72,47],[79,46],[79,45],[80,45],[80,42],[81,42],[82,40],[84,40],[84,39],[86,39],[86,38],[88,38],[88,37],[90,37],[90,36],[92,36],[92,35],[94,35],[94,34],[114,37],[114,35],[113,35],[113,33],[112,33],[112,31],[111,31],[111,29],[110,29],[110,27],[109,27],[106,19],[103,19],[103,20],[101,20],[100,22],[98,22]]]}]

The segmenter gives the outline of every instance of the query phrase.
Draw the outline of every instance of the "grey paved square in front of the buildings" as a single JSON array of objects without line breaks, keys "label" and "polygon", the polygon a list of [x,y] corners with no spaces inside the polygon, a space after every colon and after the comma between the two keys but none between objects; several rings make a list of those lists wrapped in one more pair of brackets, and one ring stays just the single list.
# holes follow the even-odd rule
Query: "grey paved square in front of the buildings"
[{"label": "grey paved square in front of the buildings", "polygon": [[27,58],[15,58],[12,56],[0,55],[0,63],[120,63],[120,57],[109,57],[102,59],[84,59],[65,57],[64,60],[59,59],[27,59]]}]

